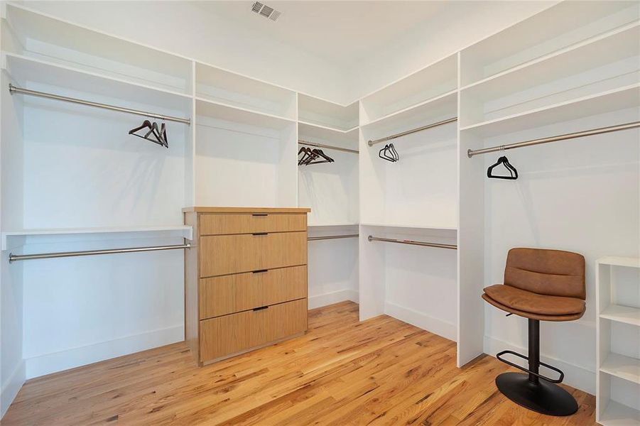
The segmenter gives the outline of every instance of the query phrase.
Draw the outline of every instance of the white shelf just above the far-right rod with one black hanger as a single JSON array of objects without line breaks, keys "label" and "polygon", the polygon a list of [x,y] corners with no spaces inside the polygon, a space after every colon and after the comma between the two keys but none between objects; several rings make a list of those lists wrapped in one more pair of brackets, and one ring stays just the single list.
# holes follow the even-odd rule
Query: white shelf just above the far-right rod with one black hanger
[{"label": "white shelf just above the far-right rod with one black hanger", "polygon": [[639,106],[640,84],[632,84],[548,107],[472,124],[460,128],[460,131],[472,131],[477,136],[492,137]]}]

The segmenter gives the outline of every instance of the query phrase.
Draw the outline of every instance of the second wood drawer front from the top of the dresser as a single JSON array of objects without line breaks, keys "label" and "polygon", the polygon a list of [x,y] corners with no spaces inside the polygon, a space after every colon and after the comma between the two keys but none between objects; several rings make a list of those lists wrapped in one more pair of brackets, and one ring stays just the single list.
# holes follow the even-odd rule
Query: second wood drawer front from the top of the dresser
[{"label": "second wood drawer front from the top of the dresser", "polygon": [[200,277],[307,264],[307,233],[200,237]]}]

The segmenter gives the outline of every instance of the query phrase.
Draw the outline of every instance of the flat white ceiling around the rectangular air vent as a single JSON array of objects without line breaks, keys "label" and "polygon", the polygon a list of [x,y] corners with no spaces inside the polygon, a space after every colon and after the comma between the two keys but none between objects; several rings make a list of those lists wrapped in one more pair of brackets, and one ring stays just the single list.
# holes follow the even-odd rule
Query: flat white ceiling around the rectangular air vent
[{"label": "flat white ceiling around the rectangular air vent", "polygon": [[460,1],[271,1],[280,11],[277,21],[251,11],[253,1],[195,1],[230,23],[293,46],[337,66],[352,63],[386,48],[416,26],[438,18]]}]

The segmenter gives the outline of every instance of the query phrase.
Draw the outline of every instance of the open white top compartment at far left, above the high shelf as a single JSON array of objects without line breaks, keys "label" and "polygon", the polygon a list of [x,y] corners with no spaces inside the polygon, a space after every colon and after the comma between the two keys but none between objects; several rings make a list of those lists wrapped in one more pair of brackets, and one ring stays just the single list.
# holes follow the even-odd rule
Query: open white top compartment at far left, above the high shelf
[{"label": "open white top compartment at far left, above the high shelf", "polygon": [[[5,52],[170,92],[191,94],[192,62],[186,58],[16,4],[6,5],[6,30],[1,45]],[[96,49],[96,46],[100,48]]]}]

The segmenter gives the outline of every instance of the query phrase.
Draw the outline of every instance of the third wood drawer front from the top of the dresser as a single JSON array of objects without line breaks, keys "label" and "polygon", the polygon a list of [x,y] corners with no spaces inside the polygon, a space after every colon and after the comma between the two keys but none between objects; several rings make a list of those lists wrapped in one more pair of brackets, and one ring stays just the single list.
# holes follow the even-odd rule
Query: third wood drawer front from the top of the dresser
[{"label": "third wood drawer front from the top of the dresser", "polygon": [[200,320],[307,297],[307,267],[200,279]]}]

